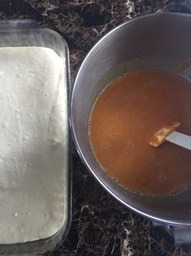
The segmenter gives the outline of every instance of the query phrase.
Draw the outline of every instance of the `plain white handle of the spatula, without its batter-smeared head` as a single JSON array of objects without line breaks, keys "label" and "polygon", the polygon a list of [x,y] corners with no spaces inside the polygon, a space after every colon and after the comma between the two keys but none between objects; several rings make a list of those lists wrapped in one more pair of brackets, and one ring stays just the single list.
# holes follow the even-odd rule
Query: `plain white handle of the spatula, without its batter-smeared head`
[{"label": "plain white handle of the spatula, without its batter-smeared head", "polygon": [[176,145],[179,145],[181,147],[191,150],[191,136],[188,136],[188,135],[185,135],[182,133],[178,133],[175,131],[174,133],[171,133],[169,136],[167,136],[166,140],[171,143],[174,143]]}]

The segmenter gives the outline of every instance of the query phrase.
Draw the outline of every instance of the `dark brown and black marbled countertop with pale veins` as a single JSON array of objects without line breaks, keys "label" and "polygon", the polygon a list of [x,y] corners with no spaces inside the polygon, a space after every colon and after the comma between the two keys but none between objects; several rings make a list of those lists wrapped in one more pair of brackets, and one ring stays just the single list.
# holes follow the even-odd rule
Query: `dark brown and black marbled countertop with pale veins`
[{"label": "dark brown and black marbled countertop with pale veins", "polygon": [[[191,13],[190,0],[0,0],[0,18],[31,18],[60,33],[70,50],[71,81],[90,47],[118,24],[144,14]],[[86,171],[73,145],[72,226],[50,256],[180,256],[151,221],[115,202]]]}]

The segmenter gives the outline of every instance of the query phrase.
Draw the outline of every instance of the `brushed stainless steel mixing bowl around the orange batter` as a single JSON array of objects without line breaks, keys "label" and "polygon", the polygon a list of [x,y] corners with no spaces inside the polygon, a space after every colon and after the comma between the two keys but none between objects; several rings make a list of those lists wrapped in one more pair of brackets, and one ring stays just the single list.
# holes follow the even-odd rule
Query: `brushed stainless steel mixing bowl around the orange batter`
[{"label": "brushed stainless steel mixing bowl around the orange batter", "polygon": [[[88,120],[98,94],[115,77],[140,68],[175,73],[177,66],[188,59],[191,59],[191,15],[160,13],[133,18],[112,29],[88,52],[75,76],[69,105],[76,149],[95,180],[124,207],[157,223],[177,226],[176,232],[182,230],[180,227],[187,228],[186,231],[191,227],[191,190],[153,198],[119,186],[101,169],[92,153]],[[178,74],[190,80],[190,66]],[[176,244],[184,243],[178,239],[175,238]]]}]

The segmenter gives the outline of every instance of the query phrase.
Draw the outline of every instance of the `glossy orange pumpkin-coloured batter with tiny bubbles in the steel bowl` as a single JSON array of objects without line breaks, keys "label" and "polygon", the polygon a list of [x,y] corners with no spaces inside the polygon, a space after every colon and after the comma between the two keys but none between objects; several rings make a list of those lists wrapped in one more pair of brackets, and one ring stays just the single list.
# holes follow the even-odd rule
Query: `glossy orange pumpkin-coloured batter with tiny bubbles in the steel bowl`
[{"label": "glossy orange pumpkin-coloured batter with tiny bubbles in the steel bowl", "polygon": [[169,122],[191,136],[191,83],[162,71],[119,77],[97,98],[90,116],[92,150],[116,182],[136,193],[169,196],[191,188],[191,151],[150,141]]}]

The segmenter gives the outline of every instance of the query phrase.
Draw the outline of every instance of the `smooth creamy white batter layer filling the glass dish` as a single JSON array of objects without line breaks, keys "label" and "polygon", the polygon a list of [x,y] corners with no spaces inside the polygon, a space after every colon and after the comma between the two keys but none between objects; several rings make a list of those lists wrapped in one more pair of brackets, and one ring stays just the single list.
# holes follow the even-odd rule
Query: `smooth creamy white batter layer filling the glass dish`
[{"label": "smooth creamy white batter layer filling the glass dish", "polygon": [[49,48],[0,48],[0,244],[48,238],[65,221],[63,65]]}]

